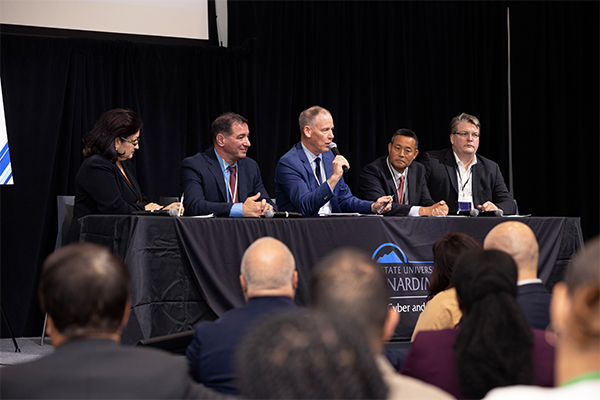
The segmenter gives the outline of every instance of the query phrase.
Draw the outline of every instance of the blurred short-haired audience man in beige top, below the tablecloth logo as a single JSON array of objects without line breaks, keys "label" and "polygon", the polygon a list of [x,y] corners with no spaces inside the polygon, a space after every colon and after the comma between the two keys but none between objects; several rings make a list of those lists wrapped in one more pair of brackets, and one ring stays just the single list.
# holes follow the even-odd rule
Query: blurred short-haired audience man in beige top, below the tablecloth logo
[{"label": "blurred short-haired audience man in beige top, below the tablecloth logo", "polygon": [[334,251],[317,264],[310,280],[309,308],[342,318],[361,330],[388,388],[388,399],[450,399],[424,382],[401,376],[383,355],[400,314],[388,308],[387,280],[371,258],[358,250]]}]

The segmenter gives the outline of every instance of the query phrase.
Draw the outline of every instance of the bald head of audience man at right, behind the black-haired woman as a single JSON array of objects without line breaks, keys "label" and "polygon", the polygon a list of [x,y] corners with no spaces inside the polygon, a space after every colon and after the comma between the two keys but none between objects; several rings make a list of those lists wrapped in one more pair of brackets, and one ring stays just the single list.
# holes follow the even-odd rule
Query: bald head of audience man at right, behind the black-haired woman
[{"label": "bald head of audience man at right, behind the black-haired woman", "polygon": [[486,250],[501,250],[517,263],[519,280],[537,278],[539,246],[535,234],[522,222],[509,221],[496,225],[485,237]]}]

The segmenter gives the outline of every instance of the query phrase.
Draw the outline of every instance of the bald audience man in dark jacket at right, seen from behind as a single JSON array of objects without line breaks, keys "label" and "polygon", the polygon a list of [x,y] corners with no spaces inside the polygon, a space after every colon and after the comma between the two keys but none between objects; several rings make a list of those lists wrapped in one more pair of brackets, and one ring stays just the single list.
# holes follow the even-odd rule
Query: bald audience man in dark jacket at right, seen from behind
[{"label": "bald audience man in dark jacket at right, seen from behind", "polygon": [[552,295],[537,277],[540,253],[531,228],[518,221],[496,225],[485,237],[483,247],[512,256],[519,270],[517,301],[533,328],[546,329],[550,324]]}]

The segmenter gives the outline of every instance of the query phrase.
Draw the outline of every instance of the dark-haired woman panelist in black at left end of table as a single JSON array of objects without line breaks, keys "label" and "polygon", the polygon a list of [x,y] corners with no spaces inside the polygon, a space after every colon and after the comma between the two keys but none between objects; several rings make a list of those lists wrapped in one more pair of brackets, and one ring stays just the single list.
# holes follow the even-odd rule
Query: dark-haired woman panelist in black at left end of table
[{"label": "dark-haired woman panelist in black at left end of table", "polygon": [[[142,194],[129,161],[139,149],[142,126],[135,112],[117,108],[102,114],[85,138],[85,160],[75,178],[75,207],[68,242],[77,241],[76,221],[86,215],[162,209]],[[179,207],[180,203],[171,203],[164,209]]]}]

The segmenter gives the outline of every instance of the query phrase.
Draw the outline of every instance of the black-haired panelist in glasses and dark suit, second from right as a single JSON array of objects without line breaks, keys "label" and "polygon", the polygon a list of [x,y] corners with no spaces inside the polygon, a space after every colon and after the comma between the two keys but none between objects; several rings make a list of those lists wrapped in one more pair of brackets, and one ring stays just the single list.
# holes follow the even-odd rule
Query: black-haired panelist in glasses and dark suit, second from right
[{"label": "black-haired panelist in glasses and dark suit, second from right", "polygon": [[431,199],[425,168],[414,161],[418,154],[417,135],[410,129],[396,131],[388,143],[388,155],[362,169],[358,181],[359,197],[377,200],[381,196],[393,195],[394,203],[387,215],[417,217],[448,214],[448,206],[443,200],[434,204]]}]

